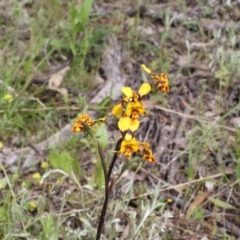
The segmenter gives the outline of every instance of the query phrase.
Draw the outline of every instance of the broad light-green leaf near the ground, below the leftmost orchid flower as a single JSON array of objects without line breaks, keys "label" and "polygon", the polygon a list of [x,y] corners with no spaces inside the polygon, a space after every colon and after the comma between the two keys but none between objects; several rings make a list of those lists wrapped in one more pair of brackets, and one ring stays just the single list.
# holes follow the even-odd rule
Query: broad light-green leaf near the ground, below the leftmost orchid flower
[{"label": "broad light-green leaf near the ground, below the leftmost orchid flower", "polygon": [[55,169],[61,169],[70,176],[72,171],[76,176],[79,176],[79,165],[77,160],[73,159],[68,152],[51,152],[48,156],[48,161],[50,165]]}]

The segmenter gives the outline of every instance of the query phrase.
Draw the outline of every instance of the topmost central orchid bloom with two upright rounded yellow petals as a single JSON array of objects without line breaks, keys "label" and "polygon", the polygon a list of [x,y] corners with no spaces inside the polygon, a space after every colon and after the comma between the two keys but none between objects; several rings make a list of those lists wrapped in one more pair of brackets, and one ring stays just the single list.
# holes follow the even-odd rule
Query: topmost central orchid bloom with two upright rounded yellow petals
[{"label": "topmost central orchid bloom with two upright rounded yellow petals", "polygon": [[148,83],[143,83],[139,88],[138,93],[134,92],[130,87],[122,87],[121,90],[125,95],[125,98],[123,99],[126,102],[137,102],[142,96],[147,95],[150,92],[151,86]]}]

